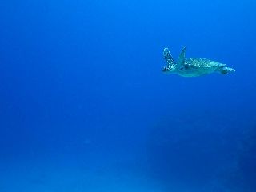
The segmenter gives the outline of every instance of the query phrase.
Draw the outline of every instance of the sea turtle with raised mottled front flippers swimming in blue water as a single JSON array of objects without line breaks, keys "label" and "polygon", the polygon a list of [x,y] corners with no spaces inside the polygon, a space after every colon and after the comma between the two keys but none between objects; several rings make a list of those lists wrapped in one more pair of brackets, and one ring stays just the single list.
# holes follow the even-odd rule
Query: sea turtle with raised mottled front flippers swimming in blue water
[{"label": "sea turtle with raised mottled front flippers swimming in blue water", "polygon": [[235,71],[233,68],[226,66],[226,64],[210,61],[206,58],[186,58],[185,54],[186,46],[179,54],[178,62],[175,62],[170,50],[167,47],[164,48],[163,56],[167,65],[163,67],[162,71],[166,74],[179,74],[183,77],[198,77],[214,72],[227,74]]}]

